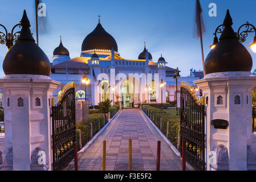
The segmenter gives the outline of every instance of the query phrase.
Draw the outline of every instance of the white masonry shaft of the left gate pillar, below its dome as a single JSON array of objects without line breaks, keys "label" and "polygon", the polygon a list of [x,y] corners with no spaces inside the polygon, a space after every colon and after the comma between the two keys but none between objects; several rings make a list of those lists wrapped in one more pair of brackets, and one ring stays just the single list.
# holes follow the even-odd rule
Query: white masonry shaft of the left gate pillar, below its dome
[{"label": "white masonry shaft of the left gate pillar, below its dome", "polygon": [[49,106],[57,85],[59,82],[39,75],[7,75],[0,79],[5,101],[3,168],[51,170]]}]

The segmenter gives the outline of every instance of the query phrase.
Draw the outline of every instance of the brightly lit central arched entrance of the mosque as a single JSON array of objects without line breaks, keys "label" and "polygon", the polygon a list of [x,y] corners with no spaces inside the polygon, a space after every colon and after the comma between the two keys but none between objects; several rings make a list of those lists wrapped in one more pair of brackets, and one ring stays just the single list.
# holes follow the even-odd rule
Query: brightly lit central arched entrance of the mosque
[{"label": "brightly lit central arched entrance of the mosque", "polygon": [[121,105],[123,108],[134,106],[134,84],[133,81],[126,79],[121,84]]}]

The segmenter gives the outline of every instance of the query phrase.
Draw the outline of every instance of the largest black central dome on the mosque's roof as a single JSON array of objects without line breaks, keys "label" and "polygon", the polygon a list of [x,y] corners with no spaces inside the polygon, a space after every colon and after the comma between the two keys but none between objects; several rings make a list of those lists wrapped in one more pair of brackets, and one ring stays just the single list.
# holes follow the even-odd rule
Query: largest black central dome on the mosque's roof
[{"label": "largest black central dome on the mosque's roof", "polygon": [[82,42],[82,51],[87,51],[91,49],[114,49],[118,52],[117,42],[112,35],[104,30],[100,22],[97,27],[90,32]]}]

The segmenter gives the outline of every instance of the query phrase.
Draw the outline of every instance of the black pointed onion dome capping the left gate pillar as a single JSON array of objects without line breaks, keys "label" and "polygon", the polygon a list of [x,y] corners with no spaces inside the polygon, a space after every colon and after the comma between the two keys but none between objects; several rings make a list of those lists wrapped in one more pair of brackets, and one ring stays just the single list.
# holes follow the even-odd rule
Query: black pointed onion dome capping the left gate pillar
[{"label": "black pointed onion dome capping the left gate pillar", "polygon": [[51,64],[46,54],[36,45],[30,31],[30,21],[24,10],[20,21],[22,30],[18,42],[11,47],[3,60],[3,72],[10,74],[45,75],[51,73]]}]

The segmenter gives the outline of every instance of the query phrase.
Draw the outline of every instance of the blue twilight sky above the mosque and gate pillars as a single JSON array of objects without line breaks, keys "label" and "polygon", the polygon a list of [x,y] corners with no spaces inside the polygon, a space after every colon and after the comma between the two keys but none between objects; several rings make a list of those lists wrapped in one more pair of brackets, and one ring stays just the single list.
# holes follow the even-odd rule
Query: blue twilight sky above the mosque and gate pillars
[{"label": "blue twilight sky above the mosque and gate pillars", "polygon": [[[101,24],[117,42],[118,52],[123,58],[138,59],[143,51],[144,41],[153,60],[161,53],[172,68],[179,67],[181,76],[188,76],[189,69],[202,69],[200,39],[195,38],[196,0],[43,0],[47,11],[47,32],[39,30],[39,46],[52,61],[53,50],[59,46],[62,36],[63,45],[71,58],[80,56],[81,44],[85,36],[94,30],[101,15]],[[210,51],[215,28],[222,24],[226,9],[233,18],[233,29],[246,21],[256,26],[255,0],[201,0],[205,33],[203,36],[204,56]],[[210,17],[209,3],[216,3],[217,16]],[[11,28],[19,23],[26,9],[31,23],[31,31],[36,39],[34,0],[1,0],[0,24]],[[0,27],[0,31],[3,29]],[[220,35],[218,35],[219,37]],[[256,53],[248,47],[253,42],[250,34],[243,45],[253,57],[253,70],[256,68]],[[7,47],[0,44],[0,64]],[[0,69],[0,77],[4,76]]]}]

